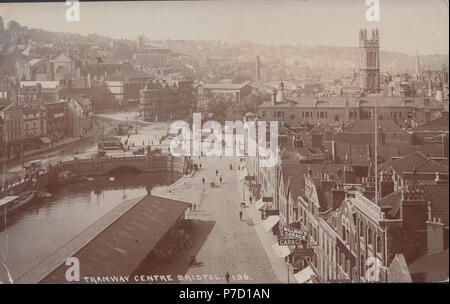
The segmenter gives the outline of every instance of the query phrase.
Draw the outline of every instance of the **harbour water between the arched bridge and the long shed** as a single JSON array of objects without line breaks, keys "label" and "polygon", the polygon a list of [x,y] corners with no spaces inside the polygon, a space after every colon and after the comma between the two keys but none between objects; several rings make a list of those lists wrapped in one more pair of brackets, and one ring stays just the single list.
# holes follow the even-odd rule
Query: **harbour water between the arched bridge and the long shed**
[{"label": "harbour water between the arched bridge and the long shed", "polygon": [[[49,189],[51,198],[36,199],[7,216],[0,230],[0,281],[21,277],[123,201],[175,182],[180,175],[123,173]],[[3,219],[2,219],[3,222]]]}]

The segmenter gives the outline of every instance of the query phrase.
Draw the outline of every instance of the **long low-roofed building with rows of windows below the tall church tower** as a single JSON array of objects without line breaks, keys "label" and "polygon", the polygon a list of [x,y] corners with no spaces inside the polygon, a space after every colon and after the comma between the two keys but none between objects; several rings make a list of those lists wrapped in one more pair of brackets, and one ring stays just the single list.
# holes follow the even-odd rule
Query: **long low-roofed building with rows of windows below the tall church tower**
[{"label": "long low-roofed building with rows of windows below the tall church tower", "polygon": [[428,97],[298,97],[258,107],[260,120],[278,121],[282,125],[329,124],[341,126],[355,120],[375,117],[394,120],[399,125],[417,125],[441,115],[443,103]]}]

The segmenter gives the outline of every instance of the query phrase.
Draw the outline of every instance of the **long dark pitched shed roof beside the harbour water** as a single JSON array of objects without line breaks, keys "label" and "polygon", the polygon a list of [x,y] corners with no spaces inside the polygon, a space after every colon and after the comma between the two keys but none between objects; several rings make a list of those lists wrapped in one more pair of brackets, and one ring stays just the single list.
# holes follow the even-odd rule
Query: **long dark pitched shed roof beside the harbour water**
[{"label": "long dark pitched shed roof beside the harbour water", "polygon": [[131,275],[188,207],[188,203],[155,196],[124,202],[18,282],[66,282],[67,256],[80,260],[80,277]]}]

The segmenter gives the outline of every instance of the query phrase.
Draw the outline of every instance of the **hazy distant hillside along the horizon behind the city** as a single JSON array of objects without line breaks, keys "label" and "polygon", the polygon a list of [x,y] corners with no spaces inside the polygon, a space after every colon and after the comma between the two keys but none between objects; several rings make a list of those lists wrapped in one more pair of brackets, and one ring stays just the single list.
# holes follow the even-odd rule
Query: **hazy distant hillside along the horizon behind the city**
[{"label": "hazy distant hillside along the horizon behind the city", "polygon": [[[225,43],[221,41],[189,41],[189,40],[152,40],[152,43],[171,49],[176,54],[184,54],[196,59],[205,56],[222,58],[244,58],[247,69],[253,69],[256,55],[272,73],[273,69],[284,67],[295,73],[348,74],[352,68],[358,69],[359,48],[339,46],[304,46],[277,45],[265,46],[255,43]],[[355,42],[356,43],[356,42]],[[117,45],[121,45],[119,53]],[[110,56],[123,59],[131,57],[135,51],[134,40],[118,40],[101,35],[79,35],[72,33],[50,32],[41,29],[29,29],[17,22],[10,22],[0,27],[0,73],[11,73],[15,60],[27,57],[23,49],[34,48],[34,57],[53,57],[61,52],[70,53],[74,57],[95,56],[101,49]],[[21,47],[21,49],[19,49]],[[441,69],[443,64],[449,66],[448,54],[420,55],[420,64],[426,70]],[[416,56],[399,52],[381,51],[380,70],[393,74],[414,73]],[[3,67],[2,67],[3,65]]]}]

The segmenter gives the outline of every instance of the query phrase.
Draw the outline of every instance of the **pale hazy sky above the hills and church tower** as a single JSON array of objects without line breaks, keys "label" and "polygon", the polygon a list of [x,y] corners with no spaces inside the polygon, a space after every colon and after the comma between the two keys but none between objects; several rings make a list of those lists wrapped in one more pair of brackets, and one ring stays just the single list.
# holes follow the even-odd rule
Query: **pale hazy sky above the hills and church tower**
[{"label": "pale hazy sky above the hills and church tower", "polygon": [[80,22],[59,3],[0,4],[5,24],[134,39],[203,39],[262,44],[357,46],[361,27],[380,31],[382,50],[448,54],[446,0],[380,0],[380,21],[365,19],[365,0],[82,2]]}]

